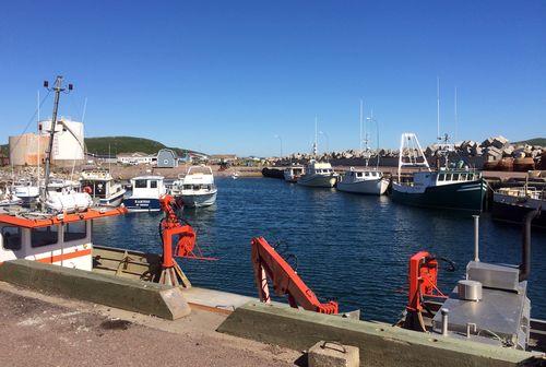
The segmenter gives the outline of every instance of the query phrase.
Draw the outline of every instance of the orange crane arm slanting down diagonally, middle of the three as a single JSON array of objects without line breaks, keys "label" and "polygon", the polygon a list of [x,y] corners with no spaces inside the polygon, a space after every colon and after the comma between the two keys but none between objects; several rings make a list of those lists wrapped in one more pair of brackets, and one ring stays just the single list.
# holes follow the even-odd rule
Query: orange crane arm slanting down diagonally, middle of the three
[{"label": "orange crane arm slanting down diagonally, middle of the three", "polygon": [[337,313],[335,301],[321,304],[292,267],[271,247],[263,237],[252,238],[252,263],[260,300],[271,303],[268,277],[278,296],[286,295],[290,307],[320,313]]}]

